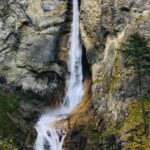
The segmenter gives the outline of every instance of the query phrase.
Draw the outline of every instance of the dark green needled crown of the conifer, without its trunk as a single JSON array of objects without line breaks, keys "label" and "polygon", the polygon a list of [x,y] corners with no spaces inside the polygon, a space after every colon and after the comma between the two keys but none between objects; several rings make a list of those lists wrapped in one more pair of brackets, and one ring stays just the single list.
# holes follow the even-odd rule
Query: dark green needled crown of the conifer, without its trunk
[{"label": "dark green needled crown of the conifer, without its trunk", "polygon": [[149,40],[138,33],[132,34],[122,45],[122,52],[125,56],[126,67],[134,67],[137,75],[140,73],[140,77],[150,75]]}]

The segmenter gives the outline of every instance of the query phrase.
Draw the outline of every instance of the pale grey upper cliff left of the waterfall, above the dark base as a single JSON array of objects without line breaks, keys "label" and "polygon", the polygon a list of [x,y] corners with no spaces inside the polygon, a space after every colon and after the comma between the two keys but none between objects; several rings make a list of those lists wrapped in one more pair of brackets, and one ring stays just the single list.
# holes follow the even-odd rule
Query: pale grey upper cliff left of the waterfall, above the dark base
[{"label": "pale grey upper cliff left of the waterfall, above the dark base", "polygon": [[57,43],[67,1],[4,0],[0,9],[1,78],[9,85],[50,95],[66,71],[59,51],[67,46]]}]

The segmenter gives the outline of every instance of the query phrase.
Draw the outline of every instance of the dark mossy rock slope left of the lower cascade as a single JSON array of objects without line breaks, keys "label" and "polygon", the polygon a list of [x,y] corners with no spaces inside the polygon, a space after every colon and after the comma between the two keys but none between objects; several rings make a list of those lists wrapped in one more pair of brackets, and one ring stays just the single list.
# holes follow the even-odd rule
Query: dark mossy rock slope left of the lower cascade
[{"label": "dark mossy rock slope left of the lower cascade", "polygon": [[33,125],[38,117],[34,105],[40,107],[37,102],[31,93],[0,90],[0,150],[15,150],[13,143],[20,150],[33,146]]}]

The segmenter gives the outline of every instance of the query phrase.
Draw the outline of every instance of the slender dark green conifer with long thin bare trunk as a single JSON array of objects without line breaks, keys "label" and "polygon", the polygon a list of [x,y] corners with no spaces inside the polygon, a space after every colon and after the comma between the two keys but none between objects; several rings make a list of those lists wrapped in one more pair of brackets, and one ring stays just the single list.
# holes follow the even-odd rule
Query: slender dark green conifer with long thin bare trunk
[{"label": "slender dark green conifer with long thin bare trunk", "polygon": [[144,91],[142,89],[142,78],[150,75],[150,47],[149,41],[138,33],[130,35],[126,43],[123,44],[123,53],[125,56],[125,66],[133,67],[136,73],[139,99],[144,121],[144,132],[148,131],[146,112],[144,107]]}]

